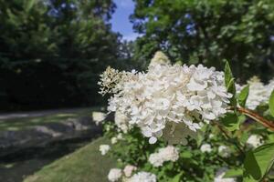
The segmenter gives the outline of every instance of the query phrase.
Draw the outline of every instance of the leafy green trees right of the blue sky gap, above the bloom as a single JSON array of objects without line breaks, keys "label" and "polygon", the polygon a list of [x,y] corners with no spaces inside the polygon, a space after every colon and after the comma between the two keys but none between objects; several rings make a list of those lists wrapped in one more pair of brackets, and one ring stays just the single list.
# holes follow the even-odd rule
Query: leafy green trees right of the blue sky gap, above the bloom
[{"label": "leafy green trees right of the blue sky gap, above the bloom", "polygon": [[134,0],[137,55],[149,60],[162,49],[177,61],[220,69],[229,60],[235,75],[273,76],[274,2],[271,0]]}]

